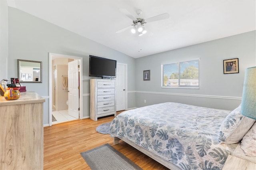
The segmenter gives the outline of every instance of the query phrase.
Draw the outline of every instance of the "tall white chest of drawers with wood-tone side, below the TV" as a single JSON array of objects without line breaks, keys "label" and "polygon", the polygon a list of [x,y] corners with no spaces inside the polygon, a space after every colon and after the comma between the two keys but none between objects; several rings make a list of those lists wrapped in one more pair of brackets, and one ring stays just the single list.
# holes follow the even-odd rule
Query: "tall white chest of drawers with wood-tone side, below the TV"
[{"label": "tall white chest of drawers with wood-tone side, below the TV", "polygon": [[116,89],[114,79],[90,79],[90,119],[116,116]]}]

